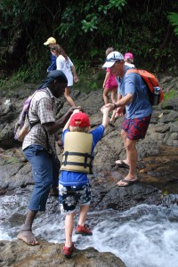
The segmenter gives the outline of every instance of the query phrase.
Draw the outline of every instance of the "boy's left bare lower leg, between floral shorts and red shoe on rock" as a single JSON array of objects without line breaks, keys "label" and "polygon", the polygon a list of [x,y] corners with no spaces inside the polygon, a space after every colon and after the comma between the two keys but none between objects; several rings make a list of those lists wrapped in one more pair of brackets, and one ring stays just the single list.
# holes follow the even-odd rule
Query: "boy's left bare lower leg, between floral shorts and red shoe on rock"
[{"label": "boy's left bare lower leg, between floral shorts and red shoe on rock", "polygon": [[66,234],[66,247],[72,247],[72,231],[74,228],[74,216],[76,212],[73,214],[66,214],[65,219],[65,234]]}]

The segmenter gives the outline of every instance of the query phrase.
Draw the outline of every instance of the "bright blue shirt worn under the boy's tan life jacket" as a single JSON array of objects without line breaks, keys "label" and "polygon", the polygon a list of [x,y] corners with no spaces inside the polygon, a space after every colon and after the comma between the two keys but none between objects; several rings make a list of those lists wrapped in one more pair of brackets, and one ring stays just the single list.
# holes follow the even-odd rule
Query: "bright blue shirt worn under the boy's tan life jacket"
[{"label": "bright blue shirt worn under the boy's tan life jacket", "polygon": [[[62,134],[62,141],[64,142],[64,136],[67,134],[69,130],[65,130]],[[97,144],[101,140],[102,135],[104,134],[104,127],[103,125],[98,126],[96,129],[91,131],[89,134],[93,135],[93,147],[92,147],[92,156],[93,150]],[[71,172],[71,171],[61,171],[60,175],[60,184],[63,186],[77,186],[88,183],[88,177],[85,173],[79,172]]]}]

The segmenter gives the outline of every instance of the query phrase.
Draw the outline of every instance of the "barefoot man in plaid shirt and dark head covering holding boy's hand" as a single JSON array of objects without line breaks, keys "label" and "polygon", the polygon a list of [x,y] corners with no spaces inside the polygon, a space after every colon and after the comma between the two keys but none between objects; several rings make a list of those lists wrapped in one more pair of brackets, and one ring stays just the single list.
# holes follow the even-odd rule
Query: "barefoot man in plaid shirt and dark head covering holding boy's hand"
[{"label": "barefoot man in plaid shirt and dark head covering holding boy's hand", "polygon": [[55,120],[55,100],[60,98],[68,85],[67,77],[61,70],[51,71],[44,84],[33,96],[28,109],[30,124],[33,125],[25,136],[22,150],[32,166],[34,189],[28,205],[25,223],[17,236],[28,245],[37,245],[32,224],[38,211],[44,211],[51,188],[58,187],[60,161],[56,155],[55,133],[62,128],[76,107],[72,107],[60,119]]}]

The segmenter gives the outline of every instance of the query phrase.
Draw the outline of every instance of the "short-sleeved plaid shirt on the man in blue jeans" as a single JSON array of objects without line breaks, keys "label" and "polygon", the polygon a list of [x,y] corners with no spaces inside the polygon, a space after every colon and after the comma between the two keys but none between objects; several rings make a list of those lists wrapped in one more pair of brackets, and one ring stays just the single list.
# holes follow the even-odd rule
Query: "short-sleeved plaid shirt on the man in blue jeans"
[{"label": "short-sleeved plaid shirt on the man in blue jeans", "polygon": [[53,93],[49,88],[45,88],[44,91],[36,91],[29,106],[28,117],[31,124],[38,121],[39,123],[34,125],[25,136],[22,150],[36,144],[48,150],[49,153],[56,154],[55,136],[54,134],[47,134],[43,126],[43,124],[54,122],[55,115],[56,107]]}]

